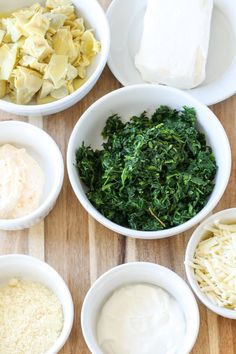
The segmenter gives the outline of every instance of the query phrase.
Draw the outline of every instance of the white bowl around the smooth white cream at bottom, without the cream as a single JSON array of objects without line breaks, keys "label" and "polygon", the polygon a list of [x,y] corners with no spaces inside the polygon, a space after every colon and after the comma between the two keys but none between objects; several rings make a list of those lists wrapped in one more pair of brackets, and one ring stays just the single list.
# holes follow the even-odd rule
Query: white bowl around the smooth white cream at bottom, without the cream
[{"label": "white bowl around the smooth white cream at bottom, without the cream", "polygon": [[153,263],[134,262],[112,268],[103,274],[85,297],[81,311],[81,325],[85,341],[92,354],[103,354],[96,335],[102,306],[116,289],[132,283],[160,286],[177,300],[186,321],[186,335],[178,354],[190,353],[199,330],[199,311],[191,290],[182,278],[168,268]]}]

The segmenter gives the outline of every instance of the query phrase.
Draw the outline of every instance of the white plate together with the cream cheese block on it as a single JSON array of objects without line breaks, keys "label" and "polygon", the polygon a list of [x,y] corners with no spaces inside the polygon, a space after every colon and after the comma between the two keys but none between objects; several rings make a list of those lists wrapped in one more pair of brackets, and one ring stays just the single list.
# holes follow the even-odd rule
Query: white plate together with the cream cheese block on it
[{"label": "white plate together with the cream cheese block on it", "polygon": [[[145,19],[148,4],[150,10]],[[209,15],[212,5],[212,15]],[[154,77],[159,72],[163,76],[159,77],[159,83],[180,85],[176,80],[179,74],[180,78],[184,72],[190,77],[193,74],[189,62],[196,65],[194,79],[206,64],[205,79],[198,86],[189,89],[182,84],[181,88],[207,105],[235,94],[236,85],[231,78],[236,73],[236,8],[231,0],[192,1],[191,4],[182,0],[178,5],[164,0],[130,0],[128,4],[126,0],[113,0],[107,17],[111,28],[108,65],[124,86],[145,82],[135,58],[146,31],[143,66],[147,65],[152,73],[148,81],[157,82]]]}]

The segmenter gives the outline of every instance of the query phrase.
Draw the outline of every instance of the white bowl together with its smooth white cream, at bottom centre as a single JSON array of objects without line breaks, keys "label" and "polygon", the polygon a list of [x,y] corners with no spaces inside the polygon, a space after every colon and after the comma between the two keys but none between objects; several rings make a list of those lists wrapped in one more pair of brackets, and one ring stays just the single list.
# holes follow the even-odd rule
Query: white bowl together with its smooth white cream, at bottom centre
[{"label": "white bowl together with its smooth white cream, at bottom centre", "polygon": [[81,325],[93,354],[188,354],[197,339],[199,311],[176,273],[133,262],[95,281],[84,299]]}]

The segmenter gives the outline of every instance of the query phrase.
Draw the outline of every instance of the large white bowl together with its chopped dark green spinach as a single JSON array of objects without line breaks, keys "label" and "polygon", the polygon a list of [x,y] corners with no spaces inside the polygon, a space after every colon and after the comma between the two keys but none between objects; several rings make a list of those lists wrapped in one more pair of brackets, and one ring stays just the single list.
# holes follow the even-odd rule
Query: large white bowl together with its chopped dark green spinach
[{"label": "large white bowl together with its chopped dark green spinach", "polygon": [[[162,109],[161,106],[168,108]],[[192,119],[192,114],[196,119],[196,124],[190,123],[193,124],[192,128],[188,126],[189,123],[186,126],[181,118],[185,114],[184,106],[195,110],[190,108],[188,111],[186,108],[187,113],[185,112],[188,119]],[[159,109],[158,113],[154,113],[156,109]],[[146,113],[143,116],[144,111]],[[168,123],[168,114],[174,115],[174,125],[181,121],[184,128],[175,126],[172,129],[172,123]],[[109,119],[111,124],[106,126],[108,117],[112,116],[114,117]],[[134,120],[129,128],[127,121],[130,124],[132,116],[136,116],[137,123]],[[145,119],[150,116],[153,116],[151,123],[149,119],[146,124]],[[155,123],[159,118],[160,125]],[[101,133],[105,126],[108,136],[103,138]],[[182,133],[178,129],[182,129]],[[193,145],[202,146],[200,149],[203,149],[201,151],[206,159],[201,158],[198,148],[194,158],[194,146],[188,150],[192,144],[191,129],[200,139]],[[152,135],[152,131],[155,134]],[[174,136],[174,131],[178,131],[177,135],[180,135]],[[201,142],[201,132],[206,141],[203,138]],[[174,134],[173,139],[168,134]],[[121,143],[117,143],[115,139],[120,139]],[[186,142],[190,145],[186,145]],[[185,148],[189,152],[184,152]],[[183,161],[185,162],[182,164]],[[207,167],[204,163],[201,165],[202,161],[208,161]],[[198,166],[196,175],[195,164]],[[205,178],[213,171],[212,167],[215,172],[212,172],[207,182]],[[205,105],[187,93],[171,87],[135,85],[105,95],[82,115],[69,140],[67,169],[78,200],[97,221],[122,235],[155,239],[186,231],[216,206],[228,183],[231,152],[221,123]],[[202,177],[199,179],[200,175]],[[194,178],[191,182],[192,176]],[[196,192],[199,192],[198,196],[195,195]],[[195,201],[198,203],[200,200],[201,206],[198,209],[193,206],[192,209],[191,205],[198,205]],[[181,212],[178,211],[179,208]]]}]

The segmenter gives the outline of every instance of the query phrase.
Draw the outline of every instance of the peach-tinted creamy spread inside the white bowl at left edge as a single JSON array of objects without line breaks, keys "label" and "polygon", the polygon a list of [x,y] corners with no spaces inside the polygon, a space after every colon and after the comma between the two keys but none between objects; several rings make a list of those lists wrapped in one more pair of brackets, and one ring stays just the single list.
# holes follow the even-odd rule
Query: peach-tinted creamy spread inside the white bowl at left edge
[{"label": "peach-tinted creamy spread inside the white bowl at left edge", "polygon": [[39,164],[23,148],[0,147],[0,218],[13,219],[35,210],[43,191]]}]

